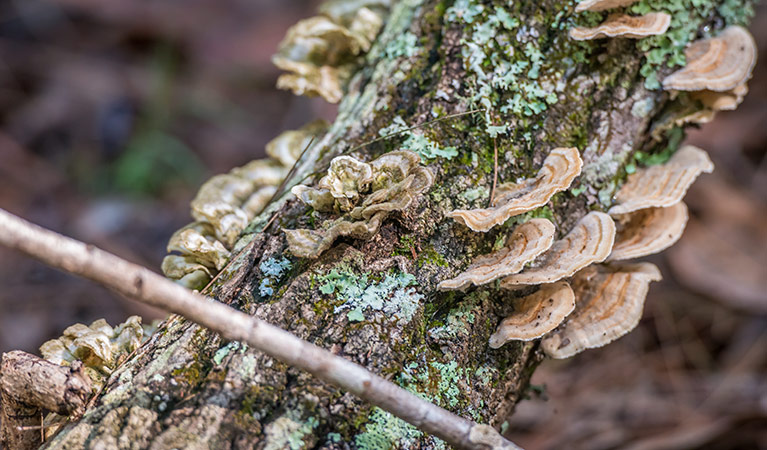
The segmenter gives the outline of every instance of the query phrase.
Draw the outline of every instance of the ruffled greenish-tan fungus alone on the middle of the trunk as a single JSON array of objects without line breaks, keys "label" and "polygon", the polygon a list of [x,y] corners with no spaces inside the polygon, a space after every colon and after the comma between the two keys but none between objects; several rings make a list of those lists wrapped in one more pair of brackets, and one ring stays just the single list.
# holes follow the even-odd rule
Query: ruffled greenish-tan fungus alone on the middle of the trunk
[{"label": "ruffled greenish-tan fungus alone on the middle of the trunk", "polygon": [[384,154],[370,164],[349,156],[330,163],[316,188],[295,186],[292,192],[317,211],[343,215],[315,230],[285,230],[296,256],[316,258],[340,236],[367,239],[393,211],[401,211],[431,187],[434,176],[408,150]]}]

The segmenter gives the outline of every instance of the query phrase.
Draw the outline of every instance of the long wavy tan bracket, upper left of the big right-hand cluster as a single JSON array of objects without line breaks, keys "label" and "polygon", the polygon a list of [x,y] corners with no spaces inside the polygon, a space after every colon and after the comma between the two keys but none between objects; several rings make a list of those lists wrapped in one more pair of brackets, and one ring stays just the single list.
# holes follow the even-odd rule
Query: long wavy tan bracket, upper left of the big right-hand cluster
[{"label": "long wavy tan bracket, upper left of the big right-hand cluster", "polygon": [[557,192],[570,187],[581,173],[583,160],[577,148],[555,148],[543,161],[535,178],[521,183],[498,186],[492,207],[485,209],[457,209],[448,217],[463,223],[474,231],[488,231],[510,217],[532,211],[548,203]]}]

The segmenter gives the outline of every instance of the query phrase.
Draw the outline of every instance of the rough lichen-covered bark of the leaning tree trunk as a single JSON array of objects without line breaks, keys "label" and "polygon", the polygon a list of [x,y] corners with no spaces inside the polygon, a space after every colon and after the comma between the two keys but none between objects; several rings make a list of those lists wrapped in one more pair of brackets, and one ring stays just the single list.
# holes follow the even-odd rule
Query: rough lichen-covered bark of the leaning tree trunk
[{"label": "rough lichen-covered bark of the leaning tree trunk", "polygon": [[[668,3],[693,11],[692,25],[685,20],[692,37],[696,30],[711,32],[744,20],[736,12],[750,5]],[[640,2],[655,9],[663,4]],[[576,146],[585,166],[574,190],[526,216],[549,217],[565,234],[587,211],[609,206],[638,150],[662,153],[670,137],[671,147],[678,144],[681,130],[668,124],[690,101],[684,95],[671,100],[645,87],[672,69],[650,64],[636,41],[578,43],[567,37],[572,23],[604,15],[576,15],[573,1],[479,5],[469,0],[394,5],[350,82],[336,122],[292,175],[295,184],[321,173],[332,157],[377,138],[395,117],[412,126],[489,108],[486,114],[451,117],[421,130],[439,147],[458,149],[452,158],[428,160],[436,175],[428,194],[390,216],[372,239],[340,240],[317,260],[292,257],[281,229],[311,228],[328,216],[285,196],[254,221],[239,243],[244,250],[211,293],[445,408],[500,427],[525,395],[541,360],[536,343],[511,343],[498,350],[487,345],[519,293],[494,287],[440,293],[435,288],[473,257],[490,251],[515,220],[474,233],[445,213],[487,205],[495,145],[499,181],[535,173],[554,147]],[[492,25],[500,20],[496,7],[518,23]],[[484,40],[483,26],[495,27],[494,42]],[[484,63],[472,63],[464,40],[480,50],[505,50],[501,56],[487,50]],[[663,50],[663,45],[659,41],[650,49]],[[504,64],[517,72],[509,87],[482,91],[483,71]],[[492,138],[488,125],[508,129]],[[659,139],[651,139],[651,131]],[[399,148],[403,139],[377,141],[354,156],[372,159]],[[263,265],[282,258],[290,261],[290,269],[271,280],[274,292],[267,295],[260,289]],[[415,289],[404,287],[409,283],[405,274],[415,277]],[[355,303],[361,297],[377,297],[383,306]],[[349,394],[177,317],[118,368],[79,421],[47,443],[47,448],[71,449],[209,447],[426,449],[443,444]]]}]

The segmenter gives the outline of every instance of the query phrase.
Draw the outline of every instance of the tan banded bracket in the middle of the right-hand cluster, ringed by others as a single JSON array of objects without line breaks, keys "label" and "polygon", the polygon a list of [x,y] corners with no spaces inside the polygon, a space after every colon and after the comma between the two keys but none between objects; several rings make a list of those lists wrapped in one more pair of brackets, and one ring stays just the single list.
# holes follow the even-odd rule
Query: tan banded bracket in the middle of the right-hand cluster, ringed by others
[{"label": "tan banded bracket in the middle of the right-hand cluster, ringed by others", "polygon": [[501,287],[513,289],[518,285],[553,283],[571,277],[589,264],[604,261],[614,240],[613,219],[603,212],[592,211],[529,268],[504,278]]}]

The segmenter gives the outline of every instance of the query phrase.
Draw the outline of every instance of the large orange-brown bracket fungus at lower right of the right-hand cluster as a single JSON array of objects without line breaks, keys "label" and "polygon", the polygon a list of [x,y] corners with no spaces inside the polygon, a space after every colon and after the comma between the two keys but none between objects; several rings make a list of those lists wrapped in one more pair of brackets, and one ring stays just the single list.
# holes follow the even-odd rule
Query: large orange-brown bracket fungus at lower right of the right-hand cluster
[{"label": "large orange-brown bracket fungus at lower right of the right-hand cluster", "polygon": [[587,267],[571,283],[575,311],[543,338],[541,348],[551,358],[563,359],[627,334],[642,317],[650,282],[661,278],[650,263]]}]

